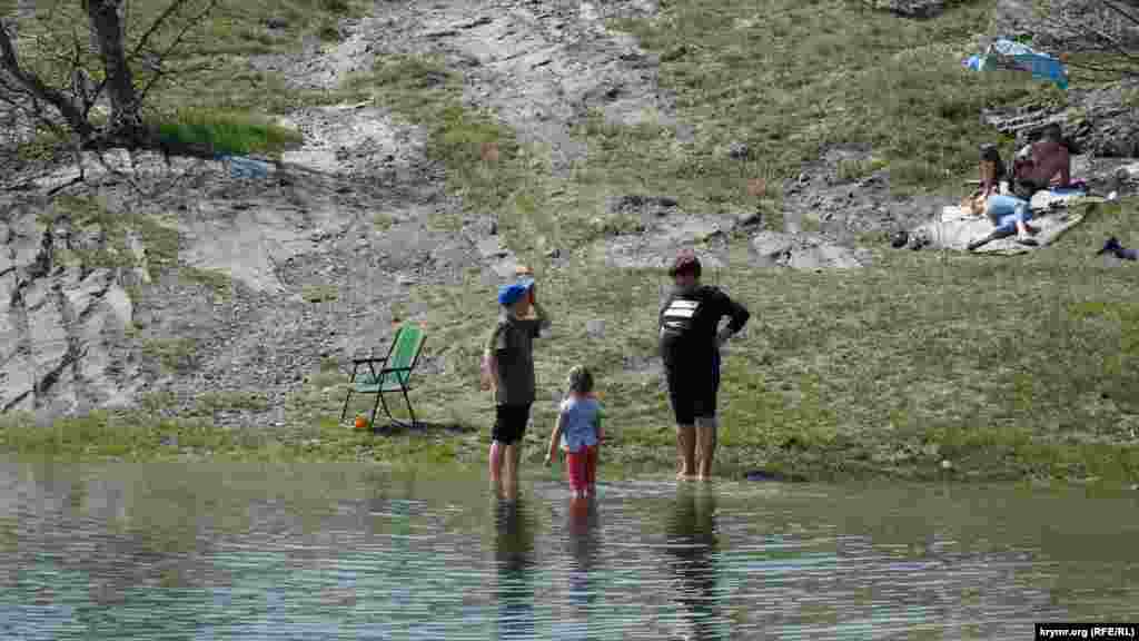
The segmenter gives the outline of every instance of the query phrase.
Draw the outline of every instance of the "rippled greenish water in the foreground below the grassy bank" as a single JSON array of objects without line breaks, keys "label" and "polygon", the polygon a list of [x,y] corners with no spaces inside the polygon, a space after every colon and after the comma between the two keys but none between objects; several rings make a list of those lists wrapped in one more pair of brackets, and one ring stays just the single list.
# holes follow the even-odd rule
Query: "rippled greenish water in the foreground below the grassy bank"
[{"label": "rippled greenish water in the foreground below the grassy bank", "polygon": [[1139,493],[0,463],[0,639],[1031,639],[1139,620]]}]

